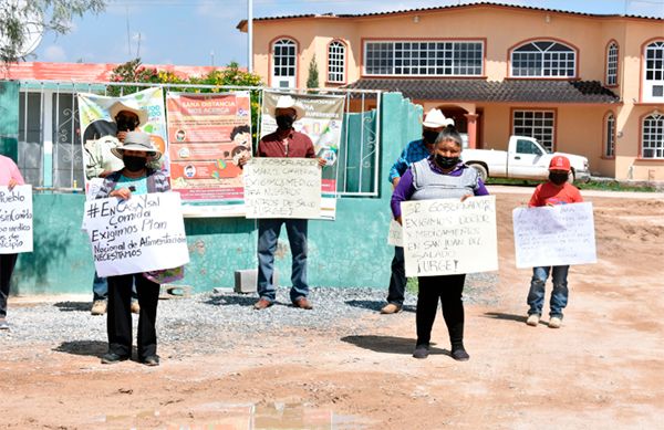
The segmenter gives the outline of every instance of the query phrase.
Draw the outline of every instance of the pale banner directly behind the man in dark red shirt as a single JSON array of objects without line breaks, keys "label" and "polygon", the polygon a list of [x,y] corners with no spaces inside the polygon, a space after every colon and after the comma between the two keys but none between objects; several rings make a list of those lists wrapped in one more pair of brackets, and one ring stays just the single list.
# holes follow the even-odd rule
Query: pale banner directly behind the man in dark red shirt
[{"label": "pale banner directly behind the man in dark red shirt", "polygon": [[345,97],[343,95],[291,94],[266,91],[263,93],[260,122],[260,136],[277,130],[274,106],[282,95],[290,95],[302,105],[305,115],[293,124],[297,132],[303,133],[313,141],[317,157],[324,158],[328,165],[322,172],[321,219],[333,220],[336,212],[336,177],[339,147]]}]

